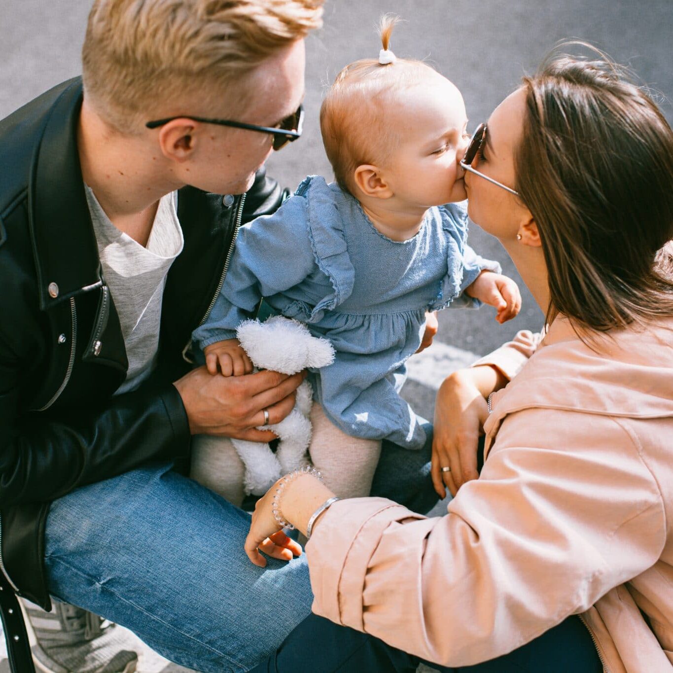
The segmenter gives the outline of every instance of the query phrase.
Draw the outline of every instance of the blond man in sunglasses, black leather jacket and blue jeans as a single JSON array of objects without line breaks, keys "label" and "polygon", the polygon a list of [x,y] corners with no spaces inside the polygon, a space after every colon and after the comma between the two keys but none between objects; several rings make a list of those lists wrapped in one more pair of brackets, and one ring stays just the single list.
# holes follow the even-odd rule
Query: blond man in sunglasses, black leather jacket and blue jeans
[{"label": "blond man in sunglasses, black leather jacket and blue jeans", "polygon": [[[262,166],[299,136],[321,4],[96,0],[83,77],[0,122],[0,588],[199,670],[245,670],[310,608],[304,565],[252,567],[246,515],[172,466],[194,433],[268,441],[302,380],[183,351],[236,226],[283,198]],[[43,670],[135,669],[59,660],[60,627]]]}]

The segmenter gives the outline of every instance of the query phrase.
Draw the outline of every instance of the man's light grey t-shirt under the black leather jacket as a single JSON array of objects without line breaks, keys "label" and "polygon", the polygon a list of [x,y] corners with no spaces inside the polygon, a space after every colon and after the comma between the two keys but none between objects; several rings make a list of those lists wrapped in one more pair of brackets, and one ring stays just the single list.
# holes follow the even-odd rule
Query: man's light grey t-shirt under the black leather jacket
[{"label": "man's light grey t-shirt under the black leather jacket", "polygon": [[166,275],[184,244],[178,192],[160,199],[145,247],[112,224],[88,185],[85,192],[103,279],[119,315],[129,358],[127,378],[115,393],[120,394],[137,388],[155,365]]}]

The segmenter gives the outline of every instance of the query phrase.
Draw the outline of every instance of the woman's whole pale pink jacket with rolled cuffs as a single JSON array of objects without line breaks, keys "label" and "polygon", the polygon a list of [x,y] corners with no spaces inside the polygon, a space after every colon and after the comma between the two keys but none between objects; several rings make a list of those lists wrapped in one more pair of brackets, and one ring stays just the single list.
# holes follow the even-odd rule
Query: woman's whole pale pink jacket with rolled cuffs
[{"label": "woman's whole pale pink jacket with rolled cuffs", "polygon": [[557,318],[479,363],[511,380],[481,476],[439,518],[332,505],[306,546],[314,612],[445,666],[579,614],[606,670],[670,671],[673,320],[585,345]]}]

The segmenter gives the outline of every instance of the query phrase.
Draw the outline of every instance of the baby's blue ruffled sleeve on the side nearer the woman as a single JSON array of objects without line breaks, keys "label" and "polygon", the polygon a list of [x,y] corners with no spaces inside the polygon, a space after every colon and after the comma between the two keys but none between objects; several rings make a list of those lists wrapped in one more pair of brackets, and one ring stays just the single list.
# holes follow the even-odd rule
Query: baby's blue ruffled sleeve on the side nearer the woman
[{"label": "baby's blue ruffled sleeve on the side nearer the woman", "polygon": [[467,243],[468,217],[465,203],[448,203],[439,208],[441,227],[448,241],[448,273],[441,282],[439,294],[429,307],[479,308],[482,302],[470,297],[465,290],[484,271],[502,273],[498,262],[476,254]]}]

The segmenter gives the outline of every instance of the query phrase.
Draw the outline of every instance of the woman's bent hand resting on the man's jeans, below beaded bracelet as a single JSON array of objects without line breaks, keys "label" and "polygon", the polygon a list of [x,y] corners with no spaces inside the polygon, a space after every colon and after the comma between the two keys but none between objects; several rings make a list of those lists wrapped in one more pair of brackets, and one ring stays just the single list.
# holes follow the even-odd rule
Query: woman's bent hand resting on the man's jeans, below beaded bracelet
[{"label": "woman's bent hand resting on the man's jeans, below beaded bracelet", "polygon": [[260,551],[281,561],[291,561],[293,557],[302,553],[299,542],[287,537],[273,516],[273,494],[278,483],[277,481],[267,493],[264,493],[254,506],[250,531],[245,542],[248,559],[260,568],[267,565],[267,559],[264,559]]}]

